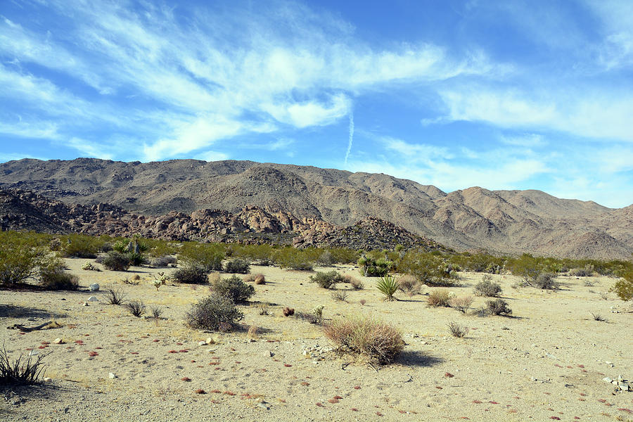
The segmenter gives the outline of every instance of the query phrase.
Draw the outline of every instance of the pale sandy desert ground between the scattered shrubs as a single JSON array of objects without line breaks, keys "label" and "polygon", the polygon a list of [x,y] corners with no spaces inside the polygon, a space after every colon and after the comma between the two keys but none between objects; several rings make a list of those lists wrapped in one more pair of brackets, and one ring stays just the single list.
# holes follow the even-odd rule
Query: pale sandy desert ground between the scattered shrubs
[{"label": "pale sandy desert ground between the scattered shrubs", "polygon": [[[494,276],[513,317],[478,317],[428,307],[425,295],[399,293],[399,301],[383,302],[376,280],[359,277],[353,267],[338,269],[366,288],[350,290],[347,302],[335,302],[331,290],[309,283],[310,273],[252,267],[267,283],[255,286],[250,306],[240,307],[242,327],[205,333],[186,327],[184,314],[209,293],[207,287],[168,283],[157,291],[152,274],[164,269],[82,271],[83,262],[67,260],[83,288],[114,285],[129,299],[164,307],[164,319],[136,318],[106,305],[103,292],[1,290],[6,350],[12,357],[49,353],[45,375],[52,378],[44,388],[3,390],[1,420],[633,420],[633,392],[614,393],[603,381],[633,378],[630,305],[599,294],[613,279],[559,277],[563,288],[549,292],[511,288],[518,278]],[[138,286],[122,283],[134,274],[141,276]],[[463,285],[449,290],[472,294],[482,274],[462,275]],[[100,302],[84,306],[91,295]],[[273,304],[269,315],[260,314],[260,302]],[[476,298],[474,307],[483,302]],[[316,305],[325,306],[326,319],[364,315],[394,324],[404,334],[404,353],[376,370],[328,352],[332,345],[319,326],[281,314],[286,306],[308,312]],[[595,321],[591,312],[608,321]],[[24,334],[4,328],[36,326],[51,316],[62,328]],[[451,321],[471,328],[466,338],[449,335]],[[258,327],[254,341],[250,326]],[[64,344],[52,344],[55,338]],[[198,345],[207,338],[214,343]]]}]

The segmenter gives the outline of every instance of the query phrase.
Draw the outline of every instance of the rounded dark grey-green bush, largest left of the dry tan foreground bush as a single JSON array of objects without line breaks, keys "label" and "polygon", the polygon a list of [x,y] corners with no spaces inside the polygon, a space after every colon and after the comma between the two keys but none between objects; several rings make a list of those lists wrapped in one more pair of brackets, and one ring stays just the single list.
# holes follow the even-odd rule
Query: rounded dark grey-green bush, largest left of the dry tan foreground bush
[{"label": "rounded dark grey-green bush, largest left of the dry tan foreground bush", "polygon": [[192,328],[227,331],[243,317],[231,299],[215,293],[193,304],[185,319]]}]

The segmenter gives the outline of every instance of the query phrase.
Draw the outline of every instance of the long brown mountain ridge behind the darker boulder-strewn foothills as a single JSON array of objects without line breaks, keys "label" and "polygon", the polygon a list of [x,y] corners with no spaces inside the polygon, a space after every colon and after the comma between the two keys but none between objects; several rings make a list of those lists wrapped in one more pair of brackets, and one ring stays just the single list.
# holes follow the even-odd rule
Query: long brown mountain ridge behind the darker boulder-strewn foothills
[{"label": "long brown mountain ridge behind the darker boulder-strewn foothills", "polygon": [[350,226],[369,217],[457,250],[630,259],[633,205],[610,209],[542,191],[471,187],[445,193],[386,174],[252,161],[25,159],[0,165],[0,187],[65,203],[112,203],[158,216],[255,206]]}]

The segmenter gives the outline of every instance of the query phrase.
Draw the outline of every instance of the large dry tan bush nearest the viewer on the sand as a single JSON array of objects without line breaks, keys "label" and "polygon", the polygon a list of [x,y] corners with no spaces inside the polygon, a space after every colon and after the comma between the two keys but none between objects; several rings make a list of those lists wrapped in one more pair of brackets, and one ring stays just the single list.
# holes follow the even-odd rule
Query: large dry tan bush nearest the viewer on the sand
[{"label": "large dry tan bush nearest the viewer on the sand", "polygon": [[379,363],[392,362],[404,349],[402,333],[376,319],[340,318],[324,327],[335,345]]}]

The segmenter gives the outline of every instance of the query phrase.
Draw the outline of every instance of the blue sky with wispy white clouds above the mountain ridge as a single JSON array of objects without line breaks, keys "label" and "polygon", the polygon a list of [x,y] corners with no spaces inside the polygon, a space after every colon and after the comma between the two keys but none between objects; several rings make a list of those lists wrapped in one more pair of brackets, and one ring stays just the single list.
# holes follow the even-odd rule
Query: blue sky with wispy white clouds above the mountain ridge
[{"label": "blue sky with wispy white clouds above the mountain ridge", "polygon": [[633,1],[0,2],[0,161],[255,160],[633,203]]}]

